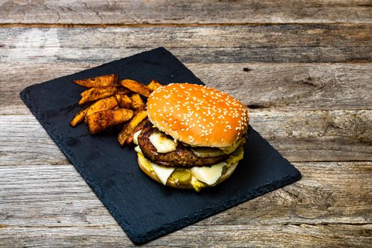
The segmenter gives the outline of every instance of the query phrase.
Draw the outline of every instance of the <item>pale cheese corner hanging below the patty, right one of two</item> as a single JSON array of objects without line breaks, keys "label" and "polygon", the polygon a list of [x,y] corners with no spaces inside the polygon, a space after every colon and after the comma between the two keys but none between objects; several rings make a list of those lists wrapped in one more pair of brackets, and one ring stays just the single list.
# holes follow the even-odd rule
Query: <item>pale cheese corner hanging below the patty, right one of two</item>
[{"label": "pale cheese corner hanging below the patty, right one of two", "polygon": [[192,167],[190,169],[193,177],[199,181],[203,181],[205,184],[212,185],[220,178],[222,175],[222,169],[227,164],[226,162],[220,162],[214,164],[211,167]]}]

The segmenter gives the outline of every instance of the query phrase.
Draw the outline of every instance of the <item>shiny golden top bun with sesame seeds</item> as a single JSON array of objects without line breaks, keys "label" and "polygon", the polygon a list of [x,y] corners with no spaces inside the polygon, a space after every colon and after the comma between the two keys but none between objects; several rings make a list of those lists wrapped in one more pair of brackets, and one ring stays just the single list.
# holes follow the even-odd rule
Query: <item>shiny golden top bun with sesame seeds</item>
[{"label": "shiny golden top bun with sesame seeds", "polygon": [[229,147],[247,131],[245,106],[228,94],[197,84],[169,84],[147,100],[151,122],[189,145]]}]

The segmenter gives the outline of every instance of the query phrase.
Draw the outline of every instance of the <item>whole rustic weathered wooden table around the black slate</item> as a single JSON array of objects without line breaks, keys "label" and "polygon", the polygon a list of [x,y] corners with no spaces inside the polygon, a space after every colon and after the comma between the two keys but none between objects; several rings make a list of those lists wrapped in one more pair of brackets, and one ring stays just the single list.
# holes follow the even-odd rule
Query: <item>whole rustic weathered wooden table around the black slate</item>
[{"label": "whole rustic weathered wooden table around the black slate", "polygon": [[18,94],[159,46],[303,179],[147,245],[372,246],[371,0],[1,0],[0,247],[133,245]]}]

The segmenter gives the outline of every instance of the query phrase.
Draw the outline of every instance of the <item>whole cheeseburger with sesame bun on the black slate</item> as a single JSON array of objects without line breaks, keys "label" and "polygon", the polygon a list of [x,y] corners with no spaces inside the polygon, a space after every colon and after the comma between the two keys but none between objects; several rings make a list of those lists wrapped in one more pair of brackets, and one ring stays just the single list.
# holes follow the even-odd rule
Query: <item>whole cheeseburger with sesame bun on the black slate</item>
[{"label": "whole cheeseburger with sesame bun on the black slate", "polygon": [[140,169],[161,184],[200,191],[225,181],[243,159],[248,111],[224,92],[162,86],[149,96],[147,115],[135,150]]}]

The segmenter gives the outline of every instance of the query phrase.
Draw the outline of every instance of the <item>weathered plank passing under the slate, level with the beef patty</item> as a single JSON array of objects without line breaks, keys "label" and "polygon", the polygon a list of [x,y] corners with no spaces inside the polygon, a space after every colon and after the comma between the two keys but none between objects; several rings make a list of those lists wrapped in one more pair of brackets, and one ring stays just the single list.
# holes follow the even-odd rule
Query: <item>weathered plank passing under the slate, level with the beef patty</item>
[{"label": "weathered plank passing under the slate, level with the beef patty", "polygon": [[[35,117],[23,110],[28,114],[0,115],[0,165],[66,163]],[[250,118],[291,162],[372,160],[372,110],[264,110],[252,111]]]}]

